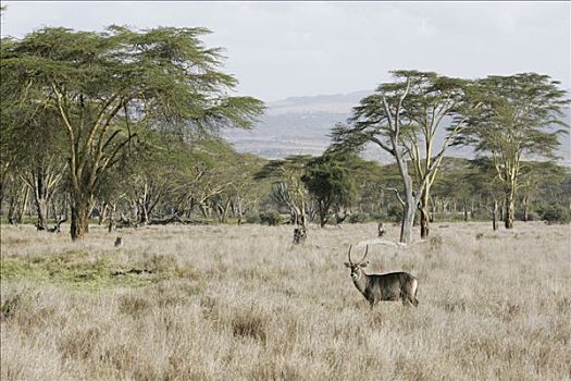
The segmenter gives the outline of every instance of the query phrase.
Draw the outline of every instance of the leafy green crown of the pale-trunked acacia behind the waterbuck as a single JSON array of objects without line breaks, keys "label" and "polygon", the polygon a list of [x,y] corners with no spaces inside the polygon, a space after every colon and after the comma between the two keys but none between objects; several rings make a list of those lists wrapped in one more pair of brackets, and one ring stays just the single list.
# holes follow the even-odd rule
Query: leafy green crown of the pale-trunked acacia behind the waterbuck
[{"label": "leafy green crown of the pale-trunked acacia behind the waterbuck", "polygon": [[[458,114],[469,82],[432,72],[390,73],[394,81],[378,85],[373,95],[364,97],[353,108],[348,125],[333,128],[333,149],[359,151],[365,144],[374,143],[394,157],[399,153],[397,149],[405,147],[413,161],[421,160],[424,148],[429,151],[422,153],[433,157],[434,135],[445,116]],[[423,172],[419,173],[421,177]]]}]

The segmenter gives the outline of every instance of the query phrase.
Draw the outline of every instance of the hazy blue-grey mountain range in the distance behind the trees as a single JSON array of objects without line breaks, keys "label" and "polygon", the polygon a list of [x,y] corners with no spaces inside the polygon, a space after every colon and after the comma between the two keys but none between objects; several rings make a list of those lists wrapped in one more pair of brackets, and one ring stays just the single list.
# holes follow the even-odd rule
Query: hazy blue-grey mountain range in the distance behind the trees
[{"label": "hazy blue-grey mountain range in the distance behind the trees", "polygon": [[[345,122],[351,108],[359,103],[372,90],[337,95],[319,95],[290,97],[266,103],[268,110],[251,131],[227,130],[223,136],[240,152],[276,159],[289,155],[319,156],[330,145],[331,128],[338,122]],[[568,111],[567,122],[571,123]],[[444,128],[443,128],[444,130]],[[436,136],[436,147],[444,138],[444,131]],[[382,162],[390,161],[387,153],[378,147],[371,146],[365,150],[367,159]],[[470,148],[450,148],[448,156],[473,158]],[[561,137],[559,156],[561,162],[571,165],[571,139]]]}]

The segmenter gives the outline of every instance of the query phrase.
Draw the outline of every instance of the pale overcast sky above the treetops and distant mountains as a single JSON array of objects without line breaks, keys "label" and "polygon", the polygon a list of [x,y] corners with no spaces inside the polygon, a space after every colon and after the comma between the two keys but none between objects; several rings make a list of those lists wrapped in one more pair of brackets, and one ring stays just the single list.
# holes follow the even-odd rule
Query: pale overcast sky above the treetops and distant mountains
[{"label": "pale overcast sky above the treetops and distant mountains", "polygon": [[206,26],[240,94],[265,101],[373,89],[388,71],[449,76],[537,72],[571,83],[566,2],[2,1],[1,34]]}]

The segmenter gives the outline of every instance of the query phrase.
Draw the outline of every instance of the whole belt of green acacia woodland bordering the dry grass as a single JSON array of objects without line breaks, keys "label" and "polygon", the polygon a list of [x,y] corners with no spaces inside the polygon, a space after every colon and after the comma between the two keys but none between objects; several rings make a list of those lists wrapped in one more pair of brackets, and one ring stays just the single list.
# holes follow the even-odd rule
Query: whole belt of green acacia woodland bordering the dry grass
[{"label": "whole belt of green acacia woodland bordering the dry grass", "polygon": [[[251,128],[264,106],[227,96],[237,79],[222,71],[220,49],[200,40],[207,33],[111,26],[3,38],[4,221],[41,231],[65,221],[80,239],[95,219],[110,231],[268,214],[302,230],[397,220],[399,241],[410,243],[417,220],[426,238],[431,221],[459,213],[482,219],[495,210],[507,229],[522,209],[523,220],[569,220],[570,173],[549,161],[569,127],[557,81],[395,71],[346,124],[332,126],[322,157],[269,162],[219,137],[221,128]],[[365,144],[395,164],[360,159]],[[473,146],[479,157],[447,159],[452,145]],[[450,179],[466,181],[438,188]]]}]

